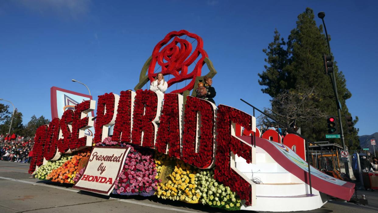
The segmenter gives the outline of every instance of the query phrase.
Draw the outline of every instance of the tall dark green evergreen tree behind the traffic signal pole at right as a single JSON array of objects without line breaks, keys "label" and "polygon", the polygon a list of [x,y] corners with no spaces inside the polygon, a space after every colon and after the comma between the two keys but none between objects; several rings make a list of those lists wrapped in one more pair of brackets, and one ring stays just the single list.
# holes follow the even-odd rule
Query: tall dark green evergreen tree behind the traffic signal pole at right
[{"label": "tall dark green evergreen tree behind the traffic signal pole at right", "polygon": [[[287,42],[280,38],[276,30],[274,40],[268,45],[268,50],[263,50],[268,56],[265,59],[268,65],[265,66],[264,72],[259,73],[259,84],[266,86],[262,89],[263,93],[276,98],[280,93],[288,90],[293,92],[300,88],[316,88],[319,94],[318,101],[311,102],[311,107],[316,106],[327,115],[337,114],[332,84],[330,77],[324,73],[322,61],[322,55],[328,53],[327,40],[323,34],[323,26],[316,26],[312,9],[306,8],[305,12],[299,14],[296,28],[291,30]],[[336,63],[334,70],[342,115],[350,115],[345,100],[352,94],[347,89],[345,77],[338,70]],[[357,120],[358,118],[355,122]],[[345,124],[345,121],[343,123]],[[324,135],[327,134],[325,118],[311,125],[299,123],[298,126],[301,127],[302,134],[313,141],[324,140]],[[358,143],[357,132],[347,135],[345,143],[348,139],[352,139],[355,144]],[[335,141],[340,142],[338,139]]]}]

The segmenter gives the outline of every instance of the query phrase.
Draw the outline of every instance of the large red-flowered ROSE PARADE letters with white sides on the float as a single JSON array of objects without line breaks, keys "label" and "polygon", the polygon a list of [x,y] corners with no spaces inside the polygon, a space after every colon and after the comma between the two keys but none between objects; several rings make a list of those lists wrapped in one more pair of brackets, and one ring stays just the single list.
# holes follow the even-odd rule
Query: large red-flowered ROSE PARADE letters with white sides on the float
[{"label": "large red-flowered ROSE PARADE letters with white sides on the float", "polygon": [[[36,155],[31,161],[30,173],[36,166],[43,164],[43,158],[49,160],[51,156],[56,158],[68,152],[62,147],[68,146],[73,151],[91,146],[88,143],[92,141],[91,136],[82,136],[80,133],[93,126],[85,113],[94,110],[94,102],[91,100],[77,104],[75,111],[67,110],[61,119],[54,118],[48,126],[37,129],[33,149]],[[98,99],[94,141],[104,140],[108,134],[107,127],[115,124],[114,141],[156,149],[198,168],[215,166],[215,179],[236,191],[241,199],[246,200],[246,204],[251,204],[254,183],[232,168],[231,161],[235,154],[248,163],[256,160],[253,157],[255,148],[236,137],[235,132],[235,124],[238,124],[245,131],[254,133],[256,118],[222,104],[217,109],[211,102],[192,96],[187,97],[184,113],[183,107],[183,96],[180,94],[164,94],[163,103],[161,97],[150,90],[122,91],[120,96],[105,93]],[[67,115],[75,114],[72,119],[67,119]],[[114,154],[105,156],[93,152],[90,161],[120,162],[121,157],[122,154],[115,157]],[[93,177],[85,180],[102,182],[104,179]]]}]

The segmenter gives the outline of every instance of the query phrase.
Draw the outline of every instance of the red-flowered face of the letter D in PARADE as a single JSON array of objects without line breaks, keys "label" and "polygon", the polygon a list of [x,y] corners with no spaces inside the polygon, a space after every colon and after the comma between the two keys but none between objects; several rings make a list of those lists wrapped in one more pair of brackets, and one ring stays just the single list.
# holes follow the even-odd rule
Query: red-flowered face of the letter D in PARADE
[{"label": "red-flowered face of the letter D in PARADE", "polygon": [[[195,151],[197,135],[197,112],[201,112],[201,137],[198,153]],[[208,168],[214,160],[214,107],[211,103],[187,96],[183,134],[183,158],[198,168]]]}]

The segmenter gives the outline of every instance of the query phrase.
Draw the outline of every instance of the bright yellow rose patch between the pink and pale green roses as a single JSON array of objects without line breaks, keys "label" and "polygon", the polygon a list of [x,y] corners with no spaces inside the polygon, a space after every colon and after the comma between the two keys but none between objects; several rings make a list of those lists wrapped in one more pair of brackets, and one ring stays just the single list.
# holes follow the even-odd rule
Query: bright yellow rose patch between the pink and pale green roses
[{"label": "bright yellow rose patch between the pink and pale green roses", "polygon": [[[174,201],[184,201],[187,203],[198,203],[200,194],[197,191],[196,172],[193,168],[184,163],[164,154],[157,153],[155,163],[158,169],[156,178],[163,180],[158,185],[156,192],[158,197]],[[174,165],[174,170],[170,174],[164,173],[164,169]],[[166,167],[166,168],[164,168]],[[162,174],[163,172],[163,174]],[[161,177],[161,176],[165,177]],[[167,180],[167,181],[164,181]]]}]

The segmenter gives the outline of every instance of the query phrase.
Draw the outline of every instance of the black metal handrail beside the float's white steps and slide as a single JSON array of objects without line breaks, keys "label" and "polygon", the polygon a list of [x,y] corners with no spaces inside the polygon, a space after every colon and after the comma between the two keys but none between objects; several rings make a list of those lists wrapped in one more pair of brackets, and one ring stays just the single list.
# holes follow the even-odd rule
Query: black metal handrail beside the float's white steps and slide
[{"label": "black metal handrail beside the float's white steps and slide", "polygon": [[[259,110],[258,108],[254,107],[252,104],[246,102],[245,100],[243,100],[242,98],[240,98],[241,101],[243,101],[244,103],[248,104],[249,106],[253,107],[253,117],[255,117],[255,109],[257,111],[259,111],[260,113],[262,113],[263,115],[265,115],[266,117],[270,118],[271,120],[273,120],[274,122],[276,122],[278,125],[280,126],[283,126],[285,128],[287,128],[287,130],[292,133],[292,134],[295,134],[295,135],[298,135],[299,137],[305,139],[306,141],[306,145],[307,145],[307,165],[308,165],[308,182],[309,182],[309,185],[310,185],[310,194],[312,194],[312,185],[311,185],[311,171],[310,171],[310,152],[308,151],[308,142],[312,143],[312,144],[315,144],[316,146],[319,146],[317,143],[314,143],[310,140],[308,140],[308,138],[304,137],[303,135],[299,134],[298,132],[296,131],[293,131],[291,128],[287,127],[286,125],[280,123],[279,121],[277,121],[276,119],[272,118],[270,115],[266,114],[265,112]],[[277,131],[278,132],[278,131]],[[256,134],[254,134],[256,135]],[[256,137],[254,136],[253,138],[253,143],[254,143],[254,146],[256,147]],[[322,146],[319,146],[320,147],[320,151],[321,151],[321,156],[322,156],[322,169],[324,168],[323,167],[323,150],[322,150]]]}]

